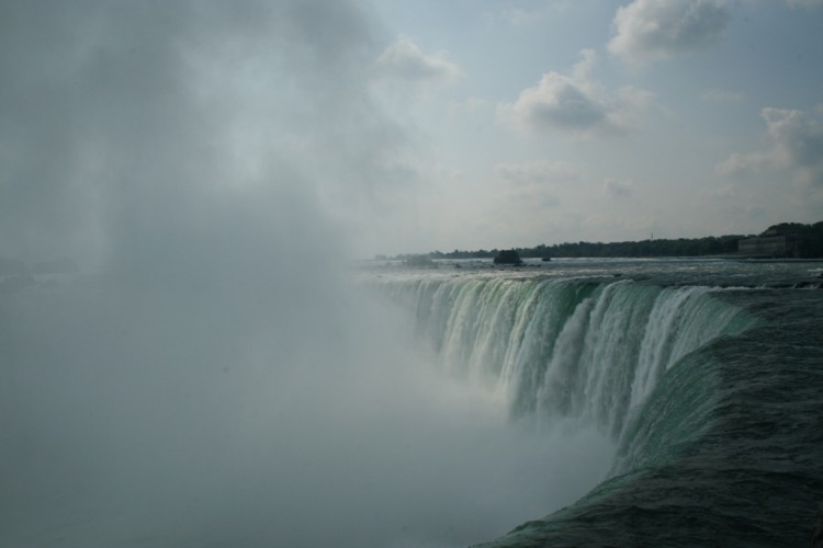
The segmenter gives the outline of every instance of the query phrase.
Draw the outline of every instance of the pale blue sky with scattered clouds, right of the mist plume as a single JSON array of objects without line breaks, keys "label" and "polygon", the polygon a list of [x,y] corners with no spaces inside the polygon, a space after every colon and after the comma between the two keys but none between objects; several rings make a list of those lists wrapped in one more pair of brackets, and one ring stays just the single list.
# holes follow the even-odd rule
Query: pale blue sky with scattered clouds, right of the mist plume
[{"label": "pale blue sky with scattered clouds, right of the mist plume", "polygon": [[823,2],[375,8],[374,93],[420,141],[418,250],[823,218]]}]

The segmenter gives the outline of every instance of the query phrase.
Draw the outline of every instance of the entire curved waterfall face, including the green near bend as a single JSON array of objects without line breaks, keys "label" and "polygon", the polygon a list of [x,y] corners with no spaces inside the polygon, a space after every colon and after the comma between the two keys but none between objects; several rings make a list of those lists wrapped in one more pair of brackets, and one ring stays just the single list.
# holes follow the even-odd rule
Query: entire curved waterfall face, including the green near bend
[{"label": "entire curved waterfall face, including the green near bend", "polygon": [[721,398],[718,364],[702,349],[764,324],[717,297],[725,289],[707,286],[539,277],[382,284],[413,310],[417,336],[441,366],[484,384],[512,420],[538,427],[571,420],[613,441],[612,479],[573,507],[700,438]]}]

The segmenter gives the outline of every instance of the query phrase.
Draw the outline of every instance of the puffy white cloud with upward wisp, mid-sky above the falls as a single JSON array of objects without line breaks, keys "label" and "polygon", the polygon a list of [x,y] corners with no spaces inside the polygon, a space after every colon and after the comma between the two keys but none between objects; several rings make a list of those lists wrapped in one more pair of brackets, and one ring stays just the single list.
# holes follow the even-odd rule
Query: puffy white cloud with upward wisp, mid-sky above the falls
[{"label": "puffy white cloud with upward wisp, mid-sky above the falls", "polygon": [[500,118],[521,129],[560,129],[577,137],[622,133],[634,124],[636,111],[647,106],[652,94],[623,88],[611,98],[605,87],[591,78],[597,62],[594,49],[580,52],[580,60],[571,75],[548,72],[533,88],[523,90],[514,104],[499,107]]}]

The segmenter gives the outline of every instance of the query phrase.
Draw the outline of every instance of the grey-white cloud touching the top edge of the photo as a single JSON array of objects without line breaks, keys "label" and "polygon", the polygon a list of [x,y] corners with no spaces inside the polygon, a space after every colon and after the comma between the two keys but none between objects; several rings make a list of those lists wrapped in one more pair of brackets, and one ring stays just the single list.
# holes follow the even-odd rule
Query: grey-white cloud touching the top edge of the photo
[{"label": "grey-white cloud touching the top edge of the photo", "polygon": [[618,8],[609,52],[645,62],[702,49],[720,41],[729,20],[726,0],[634,0]]}]

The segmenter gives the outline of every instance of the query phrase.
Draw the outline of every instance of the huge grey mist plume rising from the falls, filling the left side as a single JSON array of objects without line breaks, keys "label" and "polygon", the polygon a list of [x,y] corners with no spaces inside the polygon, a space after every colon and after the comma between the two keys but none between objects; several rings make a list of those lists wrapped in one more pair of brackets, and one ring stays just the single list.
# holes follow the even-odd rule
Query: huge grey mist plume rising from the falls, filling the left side
[{"label": "huge grey mist plume rising from the falls, filling the left side", "polygon": [[95,271],[0,295],[4,541],[465,545],[597,479],[535,482],[608,447],[509,429],[351,279],[361,214],[409,182],[361,4],[0,25],[0,255]]}]

